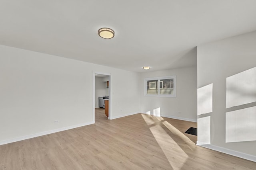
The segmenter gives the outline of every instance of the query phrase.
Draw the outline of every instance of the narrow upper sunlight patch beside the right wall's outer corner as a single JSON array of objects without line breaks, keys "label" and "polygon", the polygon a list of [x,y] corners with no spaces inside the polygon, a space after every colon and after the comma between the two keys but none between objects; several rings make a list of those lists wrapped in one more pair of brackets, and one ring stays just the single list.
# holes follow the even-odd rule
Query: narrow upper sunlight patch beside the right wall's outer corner
[{"label": "narrow upper sunlight patch beside the right wall's outer corner", "polygon": [[197,90],[197,115],[212,112],[212,87],[208,84]]}]

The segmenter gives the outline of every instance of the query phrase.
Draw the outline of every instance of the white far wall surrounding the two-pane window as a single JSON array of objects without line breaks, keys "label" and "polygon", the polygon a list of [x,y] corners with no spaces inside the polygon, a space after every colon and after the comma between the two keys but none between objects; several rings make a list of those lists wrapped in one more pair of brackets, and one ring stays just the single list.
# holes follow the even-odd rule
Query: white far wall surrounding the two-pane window
[{"label": "white far wall surrounding the two-pane window", "polygon": [[[196,61],[196,49],[186,57]],[[140,76],[140,98],[142,113],[159,111],[163,117],[197,121],[197,75],[196,66],[144,72]],[[176,98],[144,96],[144,78],[176,75]]]}]

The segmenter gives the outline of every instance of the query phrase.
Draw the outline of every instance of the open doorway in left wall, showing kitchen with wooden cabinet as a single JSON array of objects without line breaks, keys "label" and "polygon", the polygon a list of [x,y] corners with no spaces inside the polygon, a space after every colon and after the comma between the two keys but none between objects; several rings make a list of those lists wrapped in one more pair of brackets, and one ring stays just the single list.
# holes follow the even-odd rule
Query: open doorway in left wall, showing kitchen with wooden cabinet
[{"label": "open doorway in left wall, showing kitchen with wooden cabinet", "polygon": [[[93,72],[93,122],[95,114],[103,119],[111,119],[111,74]],[[96,110],[96,111],[95,111]],[[105,117],[104,117],[105,116]]]}]

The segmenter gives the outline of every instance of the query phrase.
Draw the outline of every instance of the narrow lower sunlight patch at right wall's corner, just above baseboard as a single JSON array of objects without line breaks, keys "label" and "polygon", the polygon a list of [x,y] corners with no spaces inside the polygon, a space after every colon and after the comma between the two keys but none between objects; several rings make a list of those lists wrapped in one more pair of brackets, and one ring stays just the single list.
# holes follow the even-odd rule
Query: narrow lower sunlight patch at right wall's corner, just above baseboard
[{"label": "narrow lower sunlight patch at right wall's corner, just above baseboard", "polygon": [[206,145],[211,143],[211,117],[197,119],[197,140]]}]

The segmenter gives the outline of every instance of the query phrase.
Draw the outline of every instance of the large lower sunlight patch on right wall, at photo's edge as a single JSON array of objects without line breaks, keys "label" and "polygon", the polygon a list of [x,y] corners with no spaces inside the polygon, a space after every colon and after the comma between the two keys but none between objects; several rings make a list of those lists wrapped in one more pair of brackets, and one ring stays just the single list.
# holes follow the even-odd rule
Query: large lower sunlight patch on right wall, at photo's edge
[{"label": "large lower sunlight patch on right wall, at photo's edge", "polygon": [[226,143],[256,141],[256,106],[226,113]]}]

